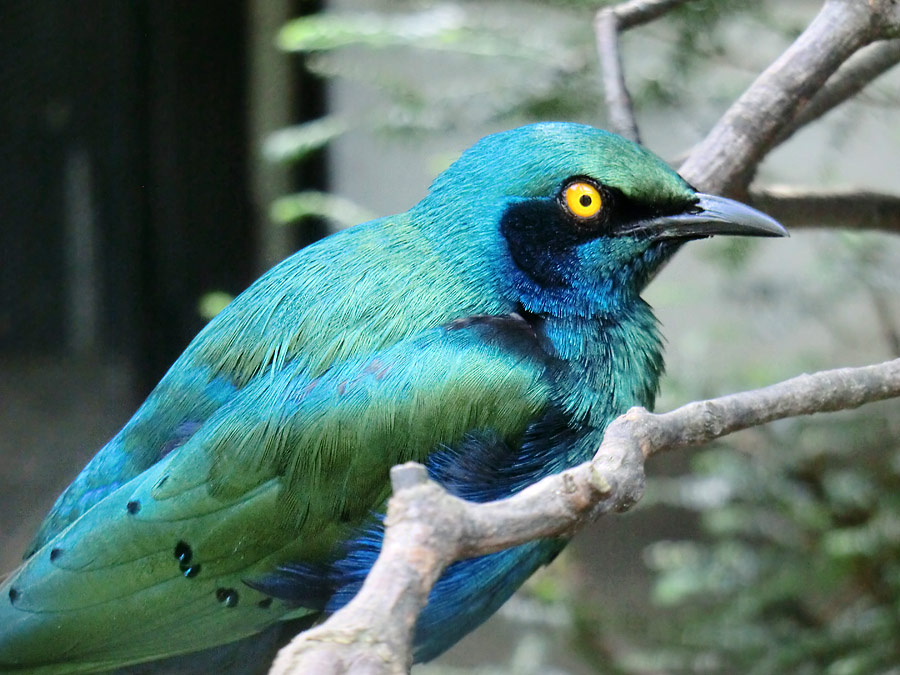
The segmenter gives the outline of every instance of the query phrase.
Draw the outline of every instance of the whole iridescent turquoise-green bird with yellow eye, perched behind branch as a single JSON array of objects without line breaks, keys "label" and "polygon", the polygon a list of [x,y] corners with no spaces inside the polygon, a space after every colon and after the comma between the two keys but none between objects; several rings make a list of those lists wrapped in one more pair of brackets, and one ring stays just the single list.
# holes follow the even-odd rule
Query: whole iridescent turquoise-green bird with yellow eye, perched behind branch
[{"label": "whole iridescent turquoise-green bird with yellow eye, perched behind branch", "polygon": [[[391,466],[485,502],[590,459],[658,393],[647,283],[687,241],[786,234],[601,129],[486,136],[410,210],[299,250],[200,331],[0,586],[0,672],[103,672],[321,621],[378,555]],[[448,567],[416,661],[566,543]]]}]

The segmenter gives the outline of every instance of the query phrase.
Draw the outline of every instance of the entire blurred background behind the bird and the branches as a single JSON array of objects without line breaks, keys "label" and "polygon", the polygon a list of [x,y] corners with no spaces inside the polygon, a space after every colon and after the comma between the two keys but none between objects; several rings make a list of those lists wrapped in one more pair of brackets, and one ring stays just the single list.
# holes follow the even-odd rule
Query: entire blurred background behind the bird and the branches
[{"label": "entire blurred background behind the bird and the branches", "polygon": [[[601,2],[0,3],[0,573],[233,295],[406,210],[486,133],[606,124]],[[677,163],[819,3],[694,0],[623,38],[643,141]],[[900,77],[758,184],[900,187]],[[646,297],[659,409],[900,355],[895,235],[699,242]],[[648,467],[425,673],[900,673],[900,405]]]}]

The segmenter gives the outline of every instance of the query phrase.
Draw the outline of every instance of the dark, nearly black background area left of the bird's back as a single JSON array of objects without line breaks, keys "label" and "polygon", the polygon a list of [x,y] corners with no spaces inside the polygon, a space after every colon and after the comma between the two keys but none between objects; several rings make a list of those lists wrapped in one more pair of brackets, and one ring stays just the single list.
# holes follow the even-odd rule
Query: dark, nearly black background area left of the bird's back
[{"label": "dark, nearly black background area left of the bird's back", "polygon": [[252,7],[0,3],[0,574],[202,327],[200,298],[258,272]]}]

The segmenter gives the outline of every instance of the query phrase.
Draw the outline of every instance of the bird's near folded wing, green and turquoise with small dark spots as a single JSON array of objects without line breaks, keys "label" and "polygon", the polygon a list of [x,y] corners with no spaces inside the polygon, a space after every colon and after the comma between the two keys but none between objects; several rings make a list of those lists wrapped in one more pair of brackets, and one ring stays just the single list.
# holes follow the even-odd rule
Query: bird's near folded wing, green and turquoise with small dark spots
[{"label": "bird's near folded wing, green and turquoise with small dark spots", "polygon": [[256,379],[0,588],[0,671],[119,666],[284,618],[243,580],[326,560],[381,508],[393,464],[472,430],[516,442],[548,403],[546,367],[524,321],[492,318]]}]

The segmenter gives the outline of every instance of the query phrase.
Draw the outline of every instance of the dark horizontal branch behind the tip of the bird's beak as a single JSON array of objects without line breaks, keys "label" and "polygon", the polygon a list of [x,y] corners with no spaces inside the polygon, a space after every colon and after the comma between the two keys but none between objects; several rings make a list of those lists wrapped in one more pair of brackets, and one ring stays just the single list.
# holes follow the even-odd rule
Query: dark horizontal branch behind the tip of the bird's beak
[{"label": "dark horizontal branch behind the tip of the bird's beak", "polygon": [[771,186],[751,189],[748,201],[791,228],[828,227],[900,234],[900,195]]}]

